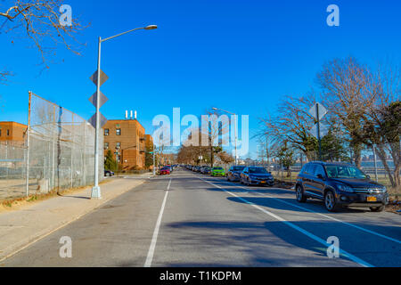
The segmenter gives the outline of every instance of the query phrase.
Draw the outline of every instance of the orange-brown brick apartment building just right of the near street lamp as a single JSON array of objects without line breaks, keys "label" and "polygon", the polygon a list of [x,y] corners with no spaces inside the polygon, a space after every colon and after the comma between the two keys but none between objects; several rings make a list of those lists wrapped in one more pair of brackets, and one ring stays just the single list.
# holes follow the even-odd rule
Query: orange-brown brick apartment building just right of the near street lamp
[{"label": "orange-brown brick apartment building just right of the near street lamp", "polygon": [[149,134],[136,119],[109,120],[103,132],[104,156],[110,150],[123,170],[145,168],[145,142]]}]

